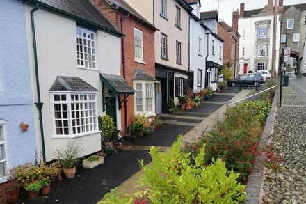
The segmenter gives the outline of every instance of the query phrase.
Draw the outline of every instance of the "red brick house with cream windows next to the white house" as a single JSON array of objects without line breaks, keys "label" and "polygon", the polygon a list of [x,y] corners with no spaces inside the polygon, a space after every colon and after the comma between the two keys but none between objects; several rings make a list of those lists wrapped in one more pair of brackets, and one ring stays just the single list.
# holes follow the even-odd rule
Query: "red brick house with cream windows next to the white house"
[{"label": "red brick house with cream windows next to the white house", "polygon": [[[135,95],[129,95],[125,102],[122,102],[121,107],[121,126],[122,134],[125,134],[127,125],[131,125],[134,113],[145,113],[150,123],[155,116],[155,100],[154,100],[154,80],[155,80],[155,58],[154,58],[154,32],[155,27],[141,17],[136,10],[131,8],[125,1],[105,1],[105,0],[90,0],[92,4],[100,10],[118,29],[124,34],[122,38],[121,52],[121,76],[127,83],[136,90]],[[138,54],[140,57],[136,59],[135,52],[135,32],[140,33],[142,42]],[[141,41],[141,40],[140,40]],[[138,82],[137,82],[138,81]],[[147,82],[146,82],[147,81]],[[149,81],[149,82],[148,82]],[[136,104],[136,95],[140,93],[136,86],[143,88],[140,92],[143,93],[141,105]],[[147,84],[152,84],[152,92],[146,92]],[[138,93],[137,93],[138,91]],[[147,94],[152,94],[152,111],[144,111],[147,109]],[[124,100],[124,97],[121,98]],[[138,99],[139,100],[139,99]],[[141,107],[141,111],[140,110]]]}]

